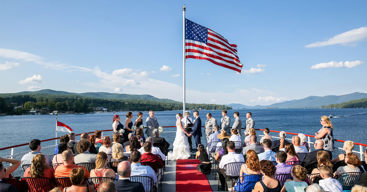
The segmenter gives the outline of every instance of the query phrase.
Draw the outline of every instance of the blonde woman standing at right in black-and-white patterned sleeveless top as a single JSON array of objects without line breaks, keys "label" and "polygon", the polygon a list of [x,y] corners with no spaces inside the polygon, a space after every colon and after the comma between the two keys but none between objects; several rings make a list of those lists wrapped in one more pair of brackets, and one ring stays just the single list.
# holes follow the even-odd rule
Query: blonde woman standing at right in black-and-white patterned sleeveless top
[{"label": "blonde woman standing at right in black-and-white patterned sleeveless top", "polygon": [[319,130],[319,132],[315,133],[315,139],[321,139],[324,141],[325,150],[334,151],[333,124],[326,116],[321,117],[320,123],[322,128]]}]

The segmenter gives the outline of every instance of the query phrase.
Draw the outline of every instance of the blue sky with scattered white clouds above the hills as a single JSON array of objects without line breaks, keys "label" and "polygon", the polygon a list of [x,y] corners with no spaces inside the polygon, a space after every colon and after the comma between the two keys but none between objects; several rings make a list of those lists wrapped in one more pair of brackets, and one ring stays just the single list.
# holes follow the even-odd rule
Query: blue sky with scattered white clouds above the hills
[{"label": "blue sky with scattered white clouds above the hills", "polygon": [[0,1],[0,92],[182,101],[182,4],[186,18],[237,44],[243,63],[239,74],[187,59],[188,103],[367,92],[367,1],[10,0]]}]

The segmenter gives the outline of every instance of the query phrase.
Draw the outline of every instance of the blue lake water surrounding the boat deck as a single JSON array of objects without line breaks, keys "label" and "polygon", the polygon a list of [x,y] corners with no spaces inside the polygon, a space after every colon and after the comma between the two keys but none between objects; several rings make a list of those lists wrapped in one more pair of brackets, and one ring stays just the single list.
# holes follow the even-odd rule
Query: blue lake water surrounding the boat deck
[{"label": "blue lake water surrounding the boat deck", "polygon": [[[351,109],[254,109],[254,110],[230,110],[228,116],[232,119],[233,113],[239,111],[240,118],[244,124],[246,121],[246,112],[252,113],[255,121],[255,128],[269,128],[270,130],[285,130],[286,132],[304,133],[314,135],[315,130],[321,128],[320,117],[323,115],[333,115],[331,122],[334,126],[334,138],[340,140],[352,140],[356,143],[367,144],[366,125],[367,125],[367,109],[351,108]],[[175,114],[182,111],[155,111],[160,126],[174,126],[176,119]],[[199,116],[201,121],[206,121],[206,113],[210,112],[214,118],[220,122],[222,118],[220,110],[200,110]],[[138,112],[133,112],[133,121],[137,118]],[[121,123],[124,122],[126,112],[116,112],[121,116]],[[74,133],[92,132],[94,130],[112,129],[112,112],[111,113],[95,113],[95,114],[67,114],[58,115],[58,121],[70,126]],[[148,112],[143,111],[143,119],[148,117]],[[0,147],[8,147],[11,145],[28,143],[32,139],[50,139],[55,137],[55,115],[14,115],[0,117],[1,139]],[[190,117],[193,117],[190,114]],[[243,126],[242,126],[243,127]],[[203,128],[204,129],[204,128]],[[165,128],[165,131],[175,131],[176,128]],[[59,132],[58,136],[67,134]],[[112,134],[112,132],[108,133]],[[258,132],[257,134],[262,134]],[[271,133],[277,136],[276,133]],[[170,143],[173,143],[174,136]],[[205,138],[205,137],[203,137]],[[204,139],[206,140],[206,139]],[[314,141],[314,140],[312,140]],[[193,141],[195,146],[195,141]],[[55,144],[55,141],[43,143],[42,147]],[[15,153],[29,150],[28,146],[17,148]],[[358,149],[357,149],[358,150]],[[0,151],[1,156],[10,155],[10,149]]]}]

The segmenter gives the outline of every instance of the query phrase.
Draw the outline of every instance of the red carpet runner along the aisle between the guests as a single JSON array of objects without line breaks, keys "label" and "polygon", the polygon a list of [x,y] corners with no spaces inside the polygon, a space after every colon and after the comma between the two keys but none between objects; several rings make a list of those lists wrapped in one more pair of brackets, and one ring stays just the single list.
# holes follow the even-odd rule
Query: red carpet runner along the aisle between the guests
[{"label": "red carpet runner along the aisle between the guests", "polygon": [[206,175],[196,170],[199,159],[179,159],[176,164],[176,191],[212,191]]}]

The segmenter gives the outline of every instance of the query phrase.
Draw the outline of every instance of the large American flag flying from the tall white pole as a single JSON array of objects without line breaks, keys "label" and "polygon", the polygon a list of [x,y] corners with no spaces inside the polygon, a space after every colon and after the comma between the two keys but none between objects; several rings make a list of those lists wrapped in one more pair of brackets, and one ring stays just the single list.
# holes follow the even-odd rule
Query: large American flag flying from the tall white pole
[{"label": "large American flag flying from the tall white pole", "polygon": [[243,64],[237,56],[237,45],[229,44],[220,34],[185,19],[186,59],[205,59],[241,73]]}]

